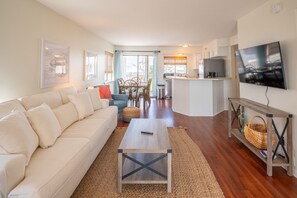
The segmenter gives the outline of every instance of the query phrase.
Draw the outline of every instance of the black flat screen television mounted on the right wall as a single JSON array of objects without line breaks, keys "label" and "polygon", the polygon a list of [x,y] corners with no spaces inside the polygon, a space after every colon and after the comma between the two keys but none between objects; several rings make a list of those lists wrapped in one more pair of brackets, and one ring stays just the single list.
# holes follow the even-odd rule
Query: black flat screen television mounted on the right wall
[{"label": "black flat screen television mounted on the right wall", "polygon": [[237,50],[240,82],[287,89],[280,43]]}]

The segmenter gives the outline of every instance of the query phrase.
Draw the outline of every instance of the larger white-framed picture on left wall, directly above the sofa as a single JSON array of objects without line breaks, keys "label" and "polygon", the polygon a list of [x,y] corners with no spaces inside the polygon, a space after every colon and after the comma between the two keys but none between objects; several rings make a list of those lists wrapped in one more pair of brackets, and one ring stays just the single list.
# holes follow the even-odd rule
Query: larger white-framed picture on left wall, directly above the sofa
[{"label": "larger white-framed picture on left wall, directly above the sofa", "polygon": [[69,82],[69,47],[41,41],[41,88]]}]

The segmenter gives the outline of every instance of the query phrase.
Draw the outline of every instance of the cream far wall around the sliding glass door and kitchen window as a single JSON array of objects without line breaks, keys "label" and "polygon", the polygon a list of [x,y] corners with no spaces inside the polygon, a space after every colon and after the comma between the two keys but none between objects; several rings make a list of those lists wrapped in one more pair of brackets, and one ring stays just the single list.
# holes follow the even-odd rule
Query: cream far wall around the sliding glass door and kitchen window
[{"label": "cream far wall around the sliding glass door and kitchen window", "polygon": [[148,46],[148,47],[128,47],[128,46],[116,46],[117,50],[135,50],[135,51],[161,51],[158,56],[158,67],[157,67],[157,83],[164,83],[163,80],[163,57],[166,55],[178,55],[183,54],[187,56],[188,61],[188,75],[191,77],[197,77],[197,70],[194,70],[196,65],[196,54],[201,53],[201,47],[158,47],[158,46]]}]

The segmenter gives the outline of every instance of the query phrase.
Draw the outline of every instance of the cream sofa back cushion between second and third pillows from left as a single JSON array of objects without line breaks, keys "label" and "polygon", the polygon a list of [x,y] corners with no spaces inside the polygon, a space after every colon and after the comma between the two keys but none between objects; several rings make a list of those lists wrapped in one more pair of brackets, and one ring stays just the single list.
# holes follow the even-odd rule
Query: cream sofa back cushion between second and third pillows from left
[{"label": "cream sofa back cushion between second and third pillows from left", "polygon": [[61,105],[55,108],[54,113],[61,125],[62,131],[78,120],[78,114],[73,103]]}]

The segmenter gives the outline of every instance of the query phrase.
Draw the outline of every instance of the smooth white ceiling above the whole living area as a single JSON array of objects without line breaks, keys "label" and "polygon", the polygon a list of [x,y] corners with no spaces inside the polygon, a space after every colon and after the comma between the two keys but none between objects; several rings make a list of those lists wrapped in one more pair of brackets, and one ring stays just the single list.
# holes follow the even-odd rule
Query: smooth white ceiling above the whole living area
[{"label": "smooth white ceiling above the whole living area", "polygon": [[267,0],[38,0],[114,45],[201,45],[233,36]]}]

